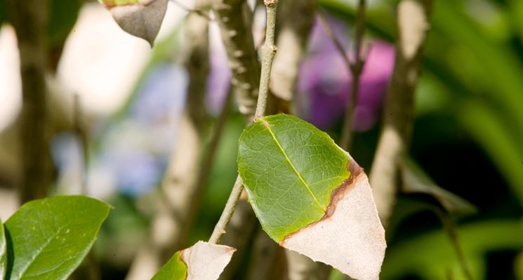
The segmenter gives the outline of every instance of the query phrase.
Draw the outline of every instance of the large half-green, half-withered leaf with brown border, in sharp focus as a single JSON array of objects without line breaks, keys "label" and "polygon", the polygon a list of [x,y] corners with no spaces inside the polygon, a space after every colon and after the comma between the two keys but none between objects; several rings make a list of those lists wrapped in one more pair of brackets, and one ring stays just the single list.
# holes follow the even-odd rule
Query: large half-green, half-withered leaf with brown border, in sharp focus
[{"label": "large half-green, half-withered leaf with brown border, in sharp focus", "polygon": [[363,169],[326,133],[293,116],[257,120],[238,170],[267,234],[355,279],[378,279],[385,230]]}]

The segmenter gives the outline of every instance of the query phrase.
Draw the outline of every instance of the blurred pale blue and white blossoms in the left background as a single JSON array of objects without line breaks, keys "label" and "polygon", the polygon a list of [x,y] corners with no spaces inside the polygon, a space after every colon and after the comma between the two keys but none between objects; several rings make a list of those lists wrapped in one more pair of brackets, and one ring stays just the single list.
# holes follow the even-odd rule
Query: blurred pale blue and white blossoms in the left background
[{"label": "blurred pale blue and white blossoms in the left background", "polygon": [[[176,142],[186,93],[183,67],[158,64],[147,73],[128,114],[111,121],[110,129],[100,135],[88,169],[89,195],[143,195],[159,184]],[[80,182],[83,165],[74,135],[55,139],[53,158],[67,188]]]}]

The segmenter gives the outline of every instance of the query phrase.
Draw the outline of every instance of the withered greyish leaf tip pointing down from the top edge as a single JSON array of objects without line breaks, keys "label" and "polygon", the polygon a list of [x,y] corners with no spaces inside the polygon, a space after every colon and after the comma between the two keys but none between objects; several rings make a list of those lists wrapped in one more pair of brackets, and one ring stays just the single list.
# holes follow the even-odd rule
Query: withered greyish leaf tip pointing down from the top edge
[{"label": "withered greyish leaf tip pointing down from the top edge", "polygon": [[152,46],[164,20],[168,0],[99,0],[128,34]]}]

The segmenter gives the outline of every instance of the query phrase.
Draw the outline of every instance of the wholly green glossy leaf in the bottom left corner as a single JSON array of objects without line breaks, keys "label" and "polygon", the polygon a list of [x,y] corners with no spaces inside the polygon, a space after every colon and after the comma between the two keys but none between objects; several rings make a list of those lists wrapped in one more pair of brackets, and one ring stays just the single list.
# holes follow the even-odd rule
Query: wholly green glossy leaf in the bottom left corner
[{"label": "wholly green glossy leaf in the bottom left corner", "polygon": [[6,222],[6,279],[67,279],[91,250],[110,206],[83,196],[24,204]]}]

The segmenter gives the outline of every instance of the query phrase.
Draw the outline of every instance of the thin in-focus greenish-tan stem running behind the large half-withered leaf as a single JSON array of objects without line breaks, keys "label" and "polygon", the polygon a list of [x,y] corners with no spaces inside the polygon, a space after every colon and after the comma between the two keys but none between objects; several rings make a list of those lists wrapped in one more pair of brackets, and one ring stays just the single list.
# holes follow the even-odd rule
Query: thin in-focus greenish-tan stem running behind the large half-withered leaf
[{"label": "thin in-focus greenish-tan stem running behind the large half-withered leaf", "polygon": [[[262,69],[260,76],[260,90],[258,92],[258,104],[256,106],[255,118],[263,118],[267,109],[267,96],[269,94],[270,72],[272,69],[272,60],[276,54],[277,48],[274,45],[274,29],[276,27],[276,10],[278,0],[265,0],[267,7],[267,29],[265,34],[265,43],[262,47]],[[241,177],[237,176],[236,182],[232,187],[231,194],[225,204],[220,220],[216,223],[213,234],[209,239],[210,243],[218,244],[225,233],[227,224],[230,222],[234,209],[238,204],[241,192],[244,190]]]}]

